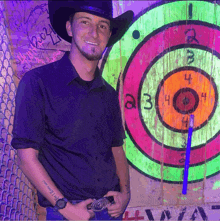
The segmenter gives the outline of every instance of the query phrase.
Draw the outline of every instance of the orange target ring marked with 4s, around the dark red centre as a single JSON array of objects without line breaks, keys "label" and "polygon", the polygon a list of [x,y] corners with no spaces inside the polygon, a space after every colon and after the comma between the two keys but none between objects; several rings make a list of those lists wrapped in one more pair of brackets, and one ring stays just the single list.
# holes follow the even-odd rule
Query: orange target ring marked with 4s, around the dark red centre
[{"label": "orange target ring marked with 4s, around the dark red centre", "polygon": [[198,107],[193,111],[196,116],[194,128],[208,120],[215,104],[215,90],[210,80],[194,70],[182,70],[168,77],[161,86],[158,96],[158,109],[162,120],[177,130],[187,130],[189,115],[182,114],[173,106],[174,95],[183,88],[191,88],[199,96]]}]

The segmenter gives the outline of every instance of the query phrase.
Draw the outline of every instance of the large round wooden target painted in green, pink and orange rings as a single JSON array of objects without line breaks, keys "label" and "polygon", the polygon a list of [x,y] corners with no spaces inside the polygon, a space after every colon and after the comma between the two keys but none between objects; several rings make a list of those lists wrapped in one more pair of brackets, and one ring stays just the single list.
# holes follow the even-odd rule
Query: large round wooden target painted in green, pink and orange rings
[{"label": "large round wooden target painted in green, pink and orange rings", "polygon": [[116,88],[121,50],[126,156],[142,174],[161,180],[162,170],[164,182],[183,181],[190,114],[188,181],[201,181],[205,171],[206,177],[219,173],[219,36],[219,5],[160,3],[135,18],[121,48],[117,43],[107,51],[102,74]]}]

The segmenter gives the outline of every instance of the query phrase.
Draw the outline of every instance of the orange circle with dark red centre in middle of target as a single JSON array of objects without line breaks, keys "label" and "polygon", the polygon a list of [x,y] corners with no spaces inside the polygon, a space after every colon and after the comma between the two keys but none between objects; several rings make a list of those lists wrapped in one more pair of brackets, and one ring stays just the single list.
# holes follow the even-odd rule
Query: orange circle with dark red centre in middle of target
[{"label": "orange circle with dark red centre in middle of target", "polygon": [[[172,131],[187,132],[185,115],[196,116],[194,131],[204,126],[216,107],[214,82],[202,70],[182,67],[171,71],[158,86],[156,111],[163,125]],[[187,117],[187,119],[189,119]]]}]

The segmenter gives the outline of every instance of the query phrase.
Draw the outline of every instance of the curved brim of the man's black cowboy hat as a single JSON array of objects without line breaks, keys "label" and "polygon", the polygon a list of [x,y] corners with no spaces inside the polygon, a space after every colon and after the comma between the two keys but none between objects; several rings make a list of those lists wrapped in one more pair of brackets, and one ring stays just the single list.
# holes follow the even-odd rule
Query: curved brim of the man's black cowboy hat
[{"label": "curved brim of the man's black cowboy hat", "polygon": [[[49,1],[50,2],[50,1]],[[88,12],[90,14],[94,14],[100,17],[103,17],[102,15],[91,12],[87,10],[81,10],[77,9],[76,7],[69,7],[69,6],[63,6],[59,8],[58,10],[53,5],[49,4],[49,15],[50,15],[50,22],[55,30],[55,32],[65,41],[72,42],[72,37],[70,37],[67,34],[66,31],[66,22],[69,20],[70,15],[76,13],[76,12]],[[116,18],[112,18],[112,35],[108,41],[108,44],[106,47],[110,47],[114,45],[117,41],[119,41],[122,36],[125,34],[125,32],[128,30],[132,20],[134,17],[133,11],[127,11],[120,16]]]}]

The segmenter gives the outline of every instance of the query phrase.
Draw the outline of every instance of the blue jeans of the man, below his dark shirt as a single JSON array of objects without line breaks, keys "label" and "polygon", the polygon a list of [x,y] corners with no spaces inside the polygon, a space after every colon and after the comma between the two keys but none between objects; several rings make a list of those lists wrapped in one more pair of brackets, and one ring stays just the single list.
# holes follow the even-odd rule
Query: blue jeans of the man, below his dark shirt
[{"label": "blue jeans of the man, below his dark shirt", "polygon": [[[72,204],[76,204],[81,202],[81,200],[73,200],[71,201]],[[59,213],[59,211],[54,211],[53,207],[47,207],[47,221],[49,220],[67,220],[62,214]],[[93,217],[90,220],[122,220],[122,216],[119,216],[117,218],[111,217],[108,214],[108,210],[102,210],[100,212],[95,212],[95,217]]]}]

